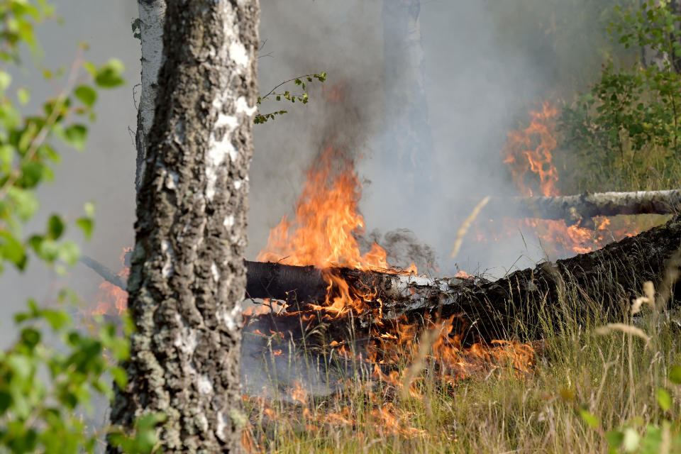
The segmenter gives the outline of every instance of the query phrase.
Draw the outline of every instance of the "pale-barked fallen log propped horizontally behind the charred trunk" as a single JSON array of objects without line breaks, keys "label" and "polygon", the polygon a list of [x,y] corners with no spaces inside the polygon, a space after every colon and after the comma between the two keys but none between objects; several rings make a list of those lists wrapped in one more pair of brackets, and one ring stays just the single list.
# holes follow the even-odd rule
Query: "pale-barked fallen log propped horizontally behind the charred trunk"
[{"label": "pale-barked fallen log propped horizontally behind the charred trunk", "polygon": [[512,218],[565,219],[618,214],[676,214],[681,207],[681,189],[668,191],[599,192],[574,196],[514,197],[492,199],[488,212]]}]

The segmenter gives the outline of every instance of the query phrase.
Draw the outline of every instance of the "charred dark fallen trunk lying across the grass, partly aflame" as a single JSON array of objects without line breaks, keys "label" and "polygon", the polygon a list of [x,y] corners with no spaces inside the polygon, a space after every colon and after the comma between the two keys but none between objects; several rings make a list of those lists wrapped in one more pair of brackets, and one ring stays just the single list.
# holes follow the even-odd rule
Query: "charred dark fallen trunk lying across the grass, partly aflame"
[{"label": "charred dark fallen trunk lying across the grass, partly aflame", "polygon": [[[377,314],[385,321],[458,315],[460,329],[469,341],[516,334],[538,338],[542,319],[586,322],[589,316],[604,314],[621,320],[629,300],[640,294],[645,281],[653,281],[658,292],[668,291],[670,283],[661,289],[659,286],[668,266],[677,270],[679,264],[670,263],[670,258],[680,245],[681,217],[676,217],[592,253],[555,264],[544,262],[494,282],[480,277],[431,279],[392,272],[319,270],[246,261],[246,296],[280,299],[289,302],[289,311],[314,313],[325,301],[328,276],[333,275],[348,283],[350,299],[362,300],[364,309],[353,309],[360,324],[375,323]],[[329,299],[333,301],[336,296],[338,289],[332,286]],[[284,320],[289,315],[269,317],[280,329],[291,324]],[[522,333],[518,332],[519,326]]]}]

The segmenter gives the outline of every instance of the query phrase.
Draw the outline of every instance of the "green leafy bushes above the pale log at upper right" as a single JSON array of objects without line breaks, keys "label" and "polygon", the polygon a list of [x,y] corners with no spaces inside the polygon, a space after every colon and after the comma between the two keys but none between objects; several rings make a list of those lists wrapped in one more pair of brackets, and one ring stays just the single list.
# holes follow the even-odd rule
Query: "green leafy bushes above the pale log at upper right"
[{"label": "green leafy bushes above the pale log at upper right", "polygon": [[619,183],[607,189],[648,189],[631,185],[645,180],[650,168],[656,179],[677,184],[673,175],[681,155],[678,11],[677,3],[668,1],[616,6],[608,31],[624,49],[645,49],[643,60],[627,65],[610,58],[589,92],[563,110],[565,138],[577,151],[578,162],[619,177]]}]

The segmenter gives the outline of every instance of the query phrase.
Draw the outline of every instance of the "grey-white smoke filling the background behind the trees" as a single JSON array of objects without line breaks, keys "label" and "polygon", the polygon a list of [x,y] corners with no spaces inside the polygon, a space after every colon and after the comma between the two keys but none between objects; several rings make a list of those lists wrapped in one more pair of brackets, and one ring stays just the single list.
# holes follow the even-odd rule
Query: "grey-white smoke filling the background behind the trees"
[{"label": "grey-white smoke filling the background behind the trees", "polygon": [[[45,65],[68,65],[77,43],[85,40],[90,44],[87,59],[101,63],[118,57],[125,62],[128,84],[102,92],[87,153],[60,147],[64,159],[55,182],[41,189],[40,215],[27,231],[42,228],[52,212],[74,220],[84,202],[96,201],[94,237],[82,248],[118,270],[121,251],[134,240],[135,149],[128,128],[135,128],[133,87],[140,70],[140,46],[131,31],[137,6],[132,1],[105,0],[57,0],[55,4],[65,23],[40,27]],[[421,3],[420,73],[425,99],[416,101],[428,108],[433,145],[419,153],[428,162],[428,176],[433,179],[429,187],[436,190],[409,194],[399,188],[414,177],[413,169],[401,161],[396,164],[391,150],[385,149],[389,140],[400,140],[400,131],[393,131],[391,125],[402,115],[386,111],[385,94],[404,81],[384,71],[384,37],[399,37],[402,30],[384,23],[382,1],[262,0],[260,36],[265,43],[258,64],[260,92],[265,94],[301,74],[327,72],[328,80],[311,84],[311,101],[305,106],[269,102],[260,109],[263,114],[282,108],[289,113],[254,130],[247,258],[254,259],[266,245],[269,229],[284,214],[292,214],[306,167],[328,145],[357,160],[365,181],[360,209],[367,231],[376,229],[372,238],[382,238],[384,245],[399,245],[389,248],[389,254],[400,265],[408,265],[405,262],[412,255],[411,260],[426,265],[437,262],[441,274],[490,267],[503,274],[520,255],[528,259],[518,265],[541,258],[536,251],[528,252],[520,236],[504,248],[467,248],[456,261],[448,253],[460,222],[477,201],[486,195],[515,194],[499,155],[507,131],[519,125],[536,101],[560,94],[558,84],[563,92],[571,92],[597,71],[601,55],[596,50],[570,43],[555,48],[547,45],[548,38],[547,43],[541,39],[557,33],[556,23],[601,26],[604,18],[585,17],[587,4],[585,0]],[[576,78],[567,74],[570,67],[581,68]],[[32,89],[34,100],[56,90],[38,78],[25,78],[22,83]],[[294,92],[297,87],[286,89]],[[36,109],[37,104],[28,107]],[[399,231],[405,228],[413,235]],[[72,238],[80,237],[72,232]],[[59,277],[37,260],[32,262],[25,274],[6,270],[0,278],[5,315],[23,307],[29,296],[55,301],[60,284],[92,301],[101,282],[82,265]],[[4,330],[1,336],[6,345],[11,332]]]}]

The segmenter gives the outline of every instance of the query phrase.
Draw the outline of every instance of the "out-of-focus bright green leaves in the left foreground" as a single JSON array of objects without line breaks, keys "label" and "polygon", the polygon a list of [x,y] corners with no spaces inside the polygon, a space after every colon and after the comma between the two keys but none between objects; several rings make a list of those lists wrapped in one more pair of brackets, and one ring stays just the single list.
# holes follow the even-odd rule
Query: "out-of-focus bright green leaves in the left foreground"
[{"label": "out-of-focus bright green leaves in the left foreground", "polygon": [[[45,78],[62,89],[35,114],[24,114],[31,92],[11,74],[28,70],[21,60],[26,50],[38,57],[35,27],[54,17],[54,8],[43,0],[0,0],[0,272],[6,265],[23,271],[31,257],[57,272],[78,260],[77,244],[64,239],[69,222],[60,214],[49,216],[44,231],[26,235],[23,228],[39,208],[37,189],[52,179],[52,167],[60,160],[54,139],[83,150],[99,90],[123,84],[121,62],[99,67],[84,62],[83,45],[63,81],[60,72],[43,69]],[[86,204],[84,211],[74,224],[89,238],[94,206]],[[60,300],[77,297],[64,289]],[[41,308],[33,299],[14,321],[18,339],[0,352],[0,451],[93,453],[108,428],[98,433],[89,427],[84,411],[92,409],[96,394],[113,395],[107,374],[124,384],[125,372],[111,367],[104,352],[122,360],[126,341],[114,326],[93,326],[95,333],[85,334],[65,309]],[[154,436],[153,430],[135,431],[130,452],[148,452]]]}]

